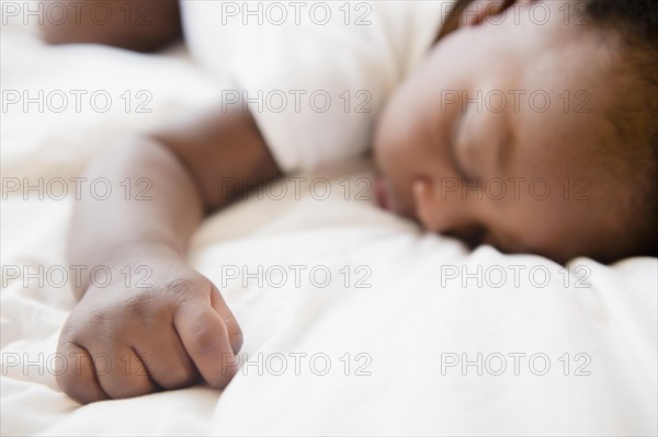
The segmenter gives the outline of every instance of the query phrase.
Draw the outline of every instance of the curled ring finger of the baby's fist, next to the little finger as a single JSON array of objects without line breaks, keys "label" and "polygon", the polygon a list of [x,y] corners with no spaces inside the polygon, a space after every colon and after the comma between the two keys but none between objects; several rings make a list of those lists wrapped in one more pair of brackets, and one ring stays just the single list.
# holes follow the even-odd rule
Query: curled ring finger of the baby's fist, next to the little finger
[{"label": "curled ring finger of the baby's fist, next to the little finger", "polygon": [[90,349],[99,383],[110,398],[134,398],[160,390],[132,347],[117,344],[102,350]]}]

